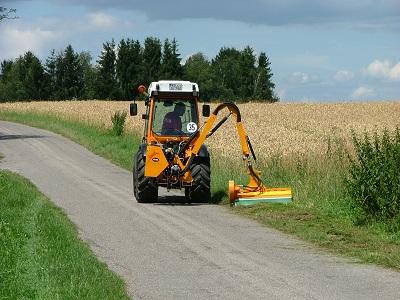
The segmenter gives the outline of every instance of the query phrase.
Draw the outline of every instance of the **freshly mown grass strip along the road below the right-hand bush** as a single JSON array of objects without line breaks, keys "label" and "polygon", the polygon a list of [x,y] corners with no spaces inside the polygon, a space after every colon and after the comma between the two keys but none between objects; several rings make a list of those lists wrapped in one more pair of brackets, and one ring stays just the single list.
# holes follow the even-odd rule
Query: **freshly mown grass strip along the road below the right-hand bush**
[{"label": "freshly mown grass strip along the road below the right-hand bush", "polygon": [[355,226],[349,219],[296,204],[260,204],[236,211],[335,254],[400,270],[400,234],[386,231],[383,224]]}]

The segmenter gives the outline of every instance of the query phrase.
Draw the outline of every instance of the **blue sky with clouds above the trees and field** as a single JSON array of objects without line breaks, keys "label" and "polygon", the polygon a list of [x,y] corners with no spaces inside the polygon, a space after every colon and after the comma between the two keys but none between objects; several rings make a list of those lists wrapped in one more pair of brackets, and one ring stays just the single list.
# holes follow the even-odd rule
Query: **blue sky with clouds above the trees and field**
[{"label": "blue sky with clouds above the trees and field", "polygon": [[[400,99],[400,0],[1,1],[0,60],[114,38],[176,38],[183,59],[223,46],[270,58],[285,102]],[[94,59],[94,61],[95,61]],[[200,87],[201,88],[201,87]]]}]

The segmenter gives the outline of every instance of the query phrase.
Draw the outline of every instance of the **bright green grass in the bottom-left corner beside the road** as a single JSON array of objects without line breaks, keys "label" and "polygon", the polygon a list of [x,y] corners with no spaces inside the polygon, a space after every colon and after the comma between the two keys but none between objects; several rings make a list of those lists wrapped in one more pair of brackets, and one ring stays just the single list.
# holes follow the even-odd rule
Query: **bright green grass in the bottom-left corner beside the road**
[{"label": "bright green grass in the bottom-left corner beside the road", "polygon": [[0,299],[129,299],[60,209],[8,171],[0,171],[0,253]]}]

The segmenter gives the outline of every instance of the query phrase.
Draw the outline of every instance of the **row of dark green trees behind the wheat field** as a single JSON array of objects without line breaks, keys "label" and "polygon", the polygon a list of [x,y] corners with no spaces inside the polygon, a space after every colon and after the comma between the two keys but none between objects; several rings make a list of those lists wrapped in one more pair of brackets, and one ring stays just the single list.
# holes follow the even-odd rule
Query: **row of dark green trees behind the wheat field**
[{"label": "row of dark green trees behind the wheat field", "polygon": [[71,45],[41,61],[32,52],[1,62],[0,102],[26,100],[130,100],[140,84],[162,79],[190,80],[203,100],[276,102],[268,56],[223,47],[211,60],[202,53],[182,61],[175,39],[148,37],[103,43],[92,63],[89,52]]}]

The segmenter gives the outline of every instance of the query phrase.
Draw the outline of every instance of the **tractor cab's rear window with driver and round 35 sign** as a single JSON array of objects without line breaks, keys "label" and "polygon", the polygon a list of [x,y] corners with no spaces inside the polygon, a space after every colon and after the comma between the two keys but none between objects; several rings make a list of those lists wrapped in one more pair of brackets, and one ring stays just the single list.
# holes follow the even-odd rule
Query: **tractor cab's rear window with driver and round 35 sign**
[{"label": "tractor cab's rear window with driver and round 35 sign", "polygon": [[190,135],[197,130],[194,100],[159,99],[155,102],[153,132],[158,135]]}]

